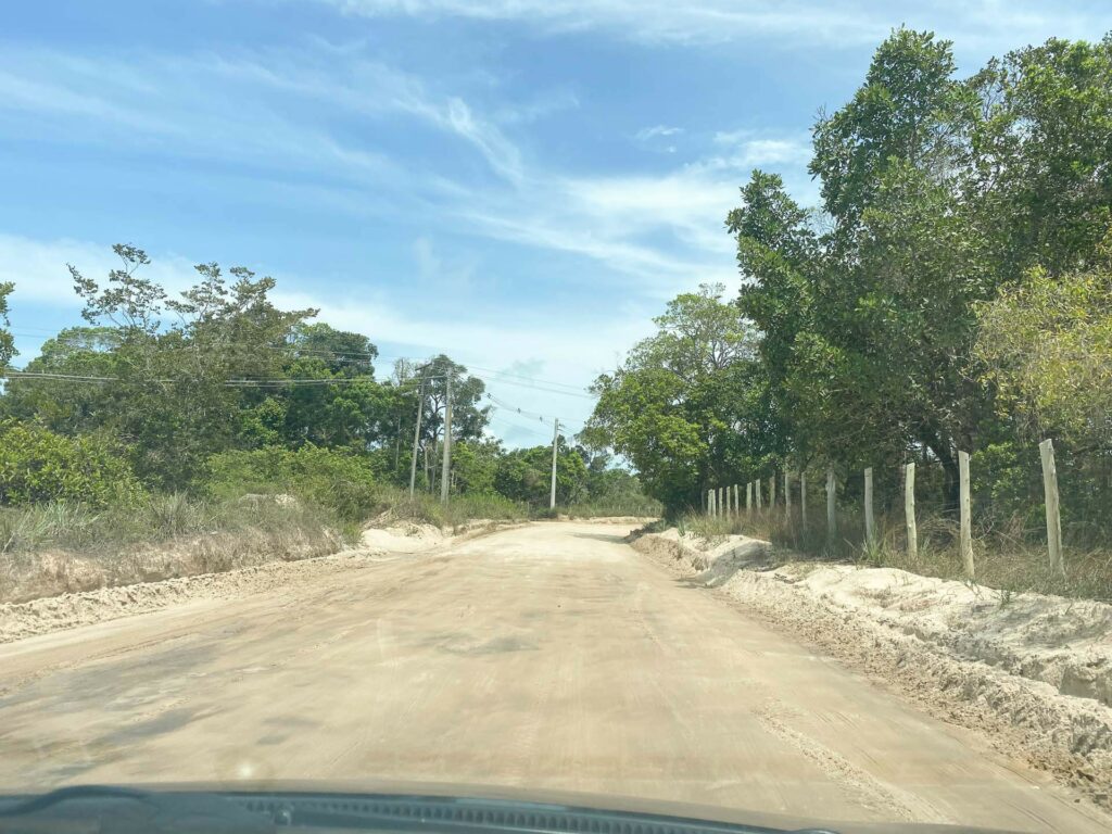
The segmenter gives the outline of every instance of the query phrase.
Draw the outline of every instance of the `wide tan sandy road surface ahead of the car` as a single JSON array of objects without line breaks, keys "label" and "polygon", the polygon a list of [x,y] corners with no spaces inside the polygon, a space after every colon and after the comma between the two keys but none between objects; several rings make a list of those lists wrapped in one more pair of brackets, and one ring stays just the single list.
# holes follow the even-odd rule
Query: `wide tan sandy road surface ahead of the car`
[{"label": "wide tan sandy road surface ahead of the car", "polygon": [[627,530],[538,524],[0,646],[0,785],[396,778],[1108,830]]}]

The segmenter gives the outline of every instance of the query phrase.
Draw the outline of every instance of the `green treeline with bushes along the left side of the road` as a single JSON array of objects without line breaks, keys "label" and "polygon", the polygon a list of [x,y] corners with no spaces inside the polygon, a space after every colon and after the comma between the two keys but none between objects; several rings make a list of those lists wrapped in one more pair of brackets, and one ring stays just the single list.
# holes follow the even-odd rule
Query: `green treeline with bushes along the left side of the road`
[{"label": "green treeline with bushes along the left side of the road", "polygon": [[[453,495],[548,506],[552,446],[494,439],[485,384],[463,365],[399,360],[377,379],[367,336],[279,309],[271,278],[201,264],[173,296],[146,277],[141,249],[113,248],[120,266],[105,280],[70,266],[87,326],[61,330],[21,369],[0,330],[0,505],[286,489],[358,518],[375,509],[376,486],[408,487],[418,399],[417,489],[439,492],[450,381]],[[6,319],[11,289],[0,287]],[[608,455],[564,437],[557,500],[655,506]]]}]

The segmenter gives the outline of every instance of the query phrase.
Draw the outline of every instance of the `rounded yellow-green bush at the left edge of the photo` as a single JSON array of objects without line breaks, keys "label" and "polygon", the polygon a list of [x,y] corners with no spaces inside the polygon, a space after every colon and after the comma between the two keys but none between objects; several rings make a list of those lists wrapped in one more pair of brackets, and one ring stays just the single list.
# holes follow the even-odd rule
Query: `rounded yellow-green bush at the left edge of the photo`
[{"label": "rounded yellow-green bush at the left edge of the photo", "polygon": [[142,494],[119,447],[97,436],[66,437],[31,424],[0,424],[0,504],[132,503]]}]

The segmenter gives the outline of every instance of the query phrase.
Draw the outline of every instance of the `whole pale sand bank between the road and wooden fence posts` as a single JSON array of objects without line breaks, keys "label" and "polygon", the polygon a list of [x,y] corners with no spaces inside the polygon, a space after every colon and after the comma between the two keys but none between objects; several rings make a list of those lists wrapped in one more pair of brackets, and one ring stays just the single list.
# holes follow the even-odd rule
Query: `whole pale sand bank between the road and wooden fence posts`
[{"label": "whole pale sand bank between the road and wooden fence posts", "polygon": [[767,543],[745,536],[633,546],[1110,805],[1112,606],[893,568],[770,568]]}]

